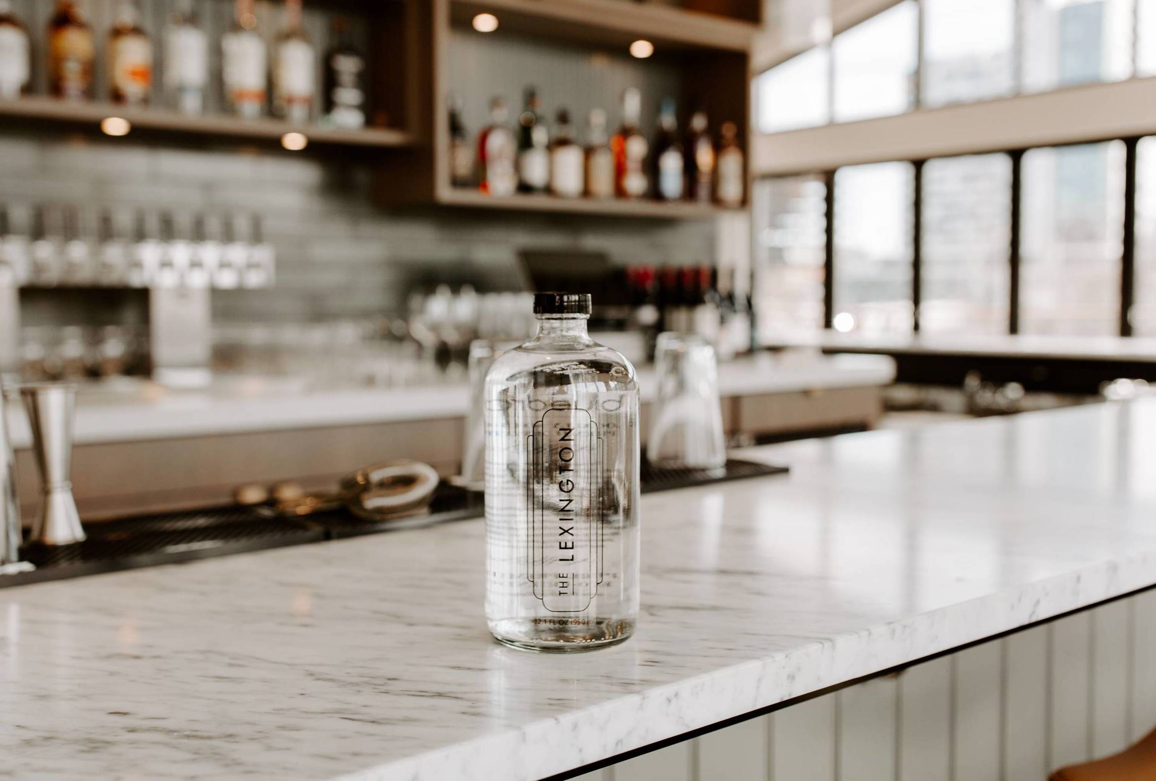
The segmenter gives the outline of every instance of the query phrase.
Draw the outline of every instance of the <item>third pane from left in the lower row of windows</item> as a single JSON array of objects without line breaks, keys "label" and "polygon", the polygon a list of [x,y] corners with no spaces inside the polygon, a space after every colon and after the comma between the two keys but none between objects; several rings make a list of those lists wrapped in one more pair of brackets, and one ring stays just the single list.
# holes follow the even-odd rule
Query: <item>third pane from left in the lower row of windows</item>
[{"label": "third pane from left in the lower row of windows", "polygon": [[924,164],[920,332],[1007,333],[1010,239],[1008,155]]}]

